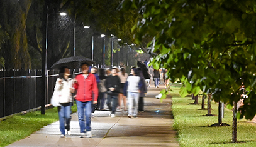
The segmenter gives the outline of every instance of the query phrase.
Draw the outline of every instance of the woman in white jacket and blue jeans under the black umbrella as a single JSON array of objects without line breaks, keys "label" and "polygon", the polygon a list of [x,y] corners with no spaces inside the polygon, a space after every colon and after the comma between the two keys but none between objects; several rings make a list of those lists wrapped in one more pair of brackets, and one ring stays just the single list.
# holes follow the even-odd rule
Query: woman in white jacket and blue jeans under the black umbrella
[{"label": "woman in white jacket and blue jeans under the black umbrella", "polygon": [[70,121],[71,121],[71,106],[72,94],[74,93],[73,79],[69,78],[69,69],[66,67],[60,68],[59,78],[56,80],[55,91],[59,91],[58,95],[60,106],[58,106],[58,118],[60,119],[61,138],[65,137],[65,129],[70,135]]}]

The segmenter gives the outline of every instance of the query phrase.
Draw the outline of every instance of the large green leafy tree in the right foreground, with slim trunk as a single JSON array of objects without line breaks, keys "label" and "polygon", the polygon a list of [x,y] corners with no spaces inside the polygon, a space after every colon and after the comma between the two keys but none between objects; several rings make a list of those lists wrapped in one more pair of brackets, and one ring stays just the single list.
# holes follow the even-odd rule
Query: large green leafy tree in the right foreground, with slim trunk
[{"label": "large green leafy tree in the right foreground, with slim trunk", "polygon": [[[256,112],[256,2],[245,1],[130,1],[142,15],[136,24],[136,43],[143,36],[153,37],[150,52],[155,68],[171,69],[172,81],[181,78],[187,93],[212,94],[214,101],[233,106],[240,98],[244,83],[248,92],[245,105],[234,109],[234,116],[252,119]],[[237,141],[236,118],[232,141]]]}]

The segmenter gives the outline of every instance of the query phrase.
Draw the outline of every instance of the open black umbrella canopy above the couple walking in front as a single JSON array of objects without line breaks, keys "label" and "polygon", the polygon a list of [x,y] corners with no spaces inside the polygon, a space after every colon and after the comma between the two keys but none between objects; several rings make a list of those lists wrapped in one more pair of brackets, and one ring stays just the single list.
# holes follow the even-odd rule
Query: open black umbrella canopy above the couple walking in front
[{"label": "open black umbrella canopy above the couple walking in front", "polygon": [[72,56],[72,57],[67,57],[67,58],[62,58],[56,63],[52,65],[52,69],[60,69],[64,66],[66,66],[69,69],[75,69],[75,68],[80,68],[80,65],[82,63],[88,63],[92,64],[95,63],[89,58],[82,57],[82,56]]}]

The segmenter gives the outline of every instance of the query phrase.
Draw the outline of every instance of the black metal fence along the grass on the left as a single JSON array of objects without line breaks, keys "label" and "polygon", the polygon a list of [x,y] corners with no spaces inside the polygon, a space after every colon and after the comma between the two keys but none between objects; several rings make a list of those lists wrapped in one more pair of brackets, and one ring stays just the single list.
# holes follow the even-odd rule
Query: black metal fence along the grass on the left
[{"label": "black metal fence along the grass on the left", "polygon": [[[45,103],[50,104],[58,71],[47,71]],[[0,71],[0,118],[38,108],[42,99],[42,70]]]}]

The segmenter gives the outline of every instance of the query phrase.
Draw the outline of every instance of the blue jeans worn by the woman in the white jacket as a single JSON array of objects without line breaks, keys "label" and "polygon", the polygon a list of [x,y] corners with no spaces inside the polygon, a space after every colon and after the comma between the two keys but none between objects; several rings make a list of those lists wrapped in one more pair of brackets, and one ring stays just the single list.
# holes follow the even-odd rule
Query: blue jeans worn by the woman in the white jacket
[{"label": "blue jeans worn by the woman in the white jacket", "polygon": [[65,126],[70,129],[71,103],[58,106],[58,118],[60,119],[60,132],[65,135]]}]

